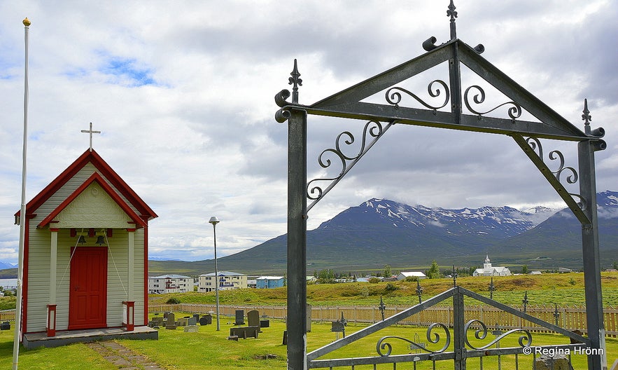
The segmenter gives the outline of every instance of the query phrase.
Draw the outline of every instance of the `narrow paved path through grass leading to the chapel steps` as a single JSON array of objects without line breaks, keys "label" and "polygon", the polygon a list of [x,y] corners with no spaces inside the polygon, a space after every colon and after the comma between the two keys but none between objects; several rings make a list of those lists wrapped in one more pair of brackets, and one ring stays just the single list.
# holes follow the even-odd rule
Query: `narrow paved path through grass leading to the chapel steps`
[{"label": "narrow paved path through grass leading to the chapel steps", "polygon": [[115,341],[85,343],[104,359],[122,370],[165,370],[146,356],[139,355]]}]

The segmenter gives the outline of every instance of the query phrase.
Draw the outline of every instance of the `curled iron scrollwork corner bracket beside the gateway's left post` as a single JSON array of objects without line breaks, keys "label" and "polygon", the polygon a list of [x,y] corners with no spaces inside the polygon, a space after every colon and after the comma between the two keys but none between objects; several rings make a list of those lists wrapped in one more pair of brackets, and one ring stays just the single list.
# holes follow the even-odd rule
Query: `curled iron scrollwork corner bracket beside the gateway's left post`
[{"label": "curled iron scrollwork corner bracket beside the gateway's left post", "polygon": [[[384,135],[384,132],[391,127],[393,123],[388,123],[386,127],[382,127],[382,124],[379,121],[368,121],[365,124],[365,128],[363,129],[363,142],[360,144],[360,149],[358,153],[354,155],[348,155],[344,153],[343,148],[345,146],[351,146],[356,142],[354,135],[352,135],[349,131],[344,131],[337,135],[337,139],[335,140],[335,148],[329,148],[322,151],[320,156],[318,156],[318,163],[322,168],[328,168],[332,165],[332,160],[328,157],[334,157],[336,162],[341,163],[341,169],[339,170],[339,174],[335,177],[321,177],[318,179],[313,179],[307,183],[307,198],[314,200],[309,207],[307,207],[307,212],[311,210],[318,200],[323,198],[323,196],[332,189],[333,186],[342,179],[347,172],[353,167],[353,165],[360,160],[361,157],[369,151],[369,149],[377,142],[377,140]],[[368,139],[373,138],[371,142],[367,142]],[[332,181],[330,185],[328,185],[325,189],[320,185],[323,181]]]}]

